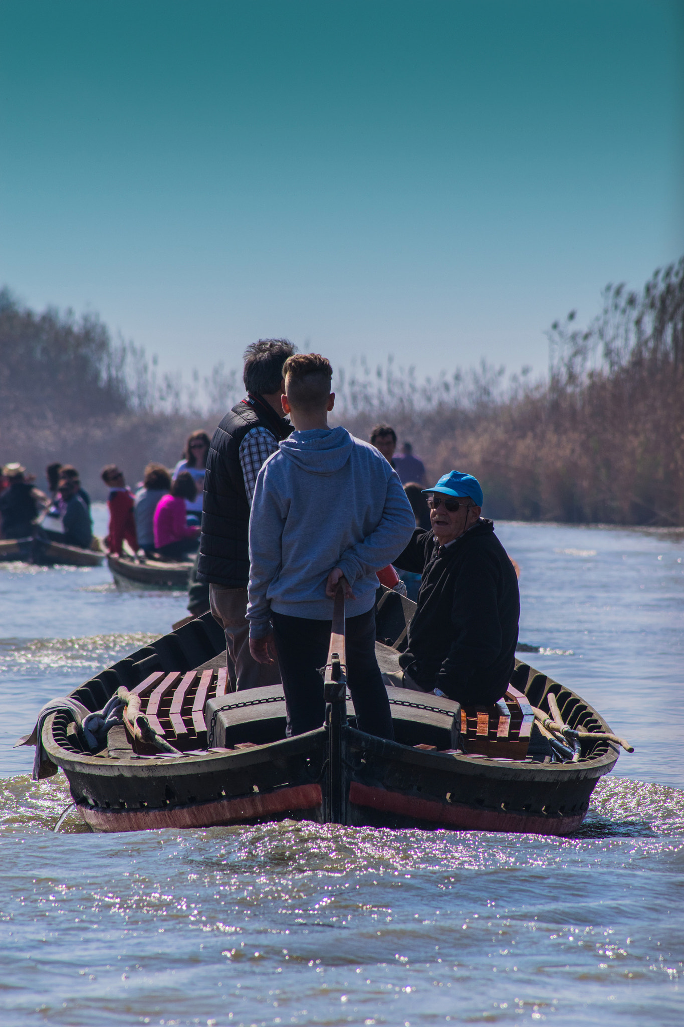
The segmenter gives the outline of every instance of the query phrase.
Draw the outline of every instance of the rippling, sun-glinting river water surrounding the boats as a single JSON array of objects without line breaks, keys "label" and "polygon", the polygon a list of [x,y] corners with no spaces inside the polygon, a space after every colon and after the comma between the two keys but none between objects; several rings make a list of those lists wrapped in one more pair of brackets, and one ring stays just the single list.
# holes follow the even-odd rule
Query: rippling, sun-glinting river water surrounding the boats
[{"label": "rippling, sun-glinting river water surrounding the boats", "polygon": [[[102,511],[98,511],[102,517]],[[180,596],[0,564],[2,1024],[681,1024],[684,543],[501,525],[521,639],[637,746],[572,838],[286,822],[91,835],[11,750]]]}]

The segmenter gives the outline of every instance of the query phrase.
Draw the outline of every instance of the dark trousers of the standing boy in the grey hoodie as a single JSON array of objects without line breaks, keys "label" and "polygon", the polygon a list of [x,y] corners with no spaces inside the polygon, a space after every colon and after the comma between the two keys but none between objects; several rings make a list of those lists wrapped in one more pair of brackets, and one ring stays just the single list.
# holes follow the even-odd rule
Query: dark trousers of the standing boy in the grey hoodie
[{"label": "dark trousers of the standing boy in the grey hoodie", "polygon": [[[287,734],[321,727],[325,720],[323,678],[330,645],[330,620],[272,613],[278,662],[287,706]],[[346,625],[347,684],[360,731],[394,738],[390,700],[375,659],[375,610],[350,617]]]}]

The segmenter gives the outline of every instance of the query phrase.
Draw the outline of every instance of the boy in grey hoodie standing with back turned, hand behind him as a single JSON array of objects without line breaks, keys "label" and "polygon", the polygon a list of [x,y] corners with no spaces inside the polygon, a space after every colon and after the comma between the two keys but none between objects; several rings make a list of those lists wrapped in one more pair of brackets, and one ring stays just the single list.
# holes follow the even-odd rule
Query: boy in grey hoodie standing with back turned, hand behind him
[{"label": "boy in grey hoodie standing with back turned, hand behind him", "polygon": [[377,571],[415,527],[396,471],[376,449],[343,427],[330,428],[332,368],[317,353],[283,368],[283,409],[294,432],[256,480],[249,521],[250,649],[263,665],[277,654],[287,733],[320,727],[333,597],[347,597],[348,683],[359,728],[394,737],[375,659]]}]

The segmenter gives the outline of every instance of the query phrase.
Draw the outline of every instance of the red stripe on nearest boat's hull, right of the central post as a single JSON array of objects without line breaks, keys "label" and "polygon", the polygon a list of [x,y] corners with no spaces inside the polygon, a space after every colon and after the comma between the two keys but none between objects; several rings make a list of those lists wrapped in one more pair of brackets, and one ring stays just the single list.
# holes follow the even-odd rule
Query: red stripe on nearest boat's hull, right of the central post
[{"label": "red stripe on nearest boat's hull, right of the central post", "polygon": [[384,813],[398,813],[414,821],[453,828],[458,831],[508,831],[514,834],[566,835],[576,831],[585,819],[584,813],[572,816],[529,816],[526,813],[507,813],[494,809],[473,809],[471,806],[448,805],[432,799],[418,799],[401,792],[388,792],[352,782],[349,790],[350,804],[377,809]]}]

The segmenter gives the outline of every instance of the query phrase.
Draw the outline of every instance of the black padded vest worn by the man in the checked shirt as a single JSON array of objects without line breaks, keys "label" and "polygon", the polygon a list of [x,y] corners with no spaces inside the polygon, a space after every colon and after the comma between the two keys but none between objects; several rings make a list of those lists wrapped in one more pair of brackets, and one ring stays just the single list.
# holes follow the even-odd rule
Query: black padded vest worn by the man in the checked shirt
[{"label": "black padded vest worn by the man in the checked shirt", "polygon": [[250,393],[229,411],[213,433],[204,476],[199,581],[228,588],[247,587],[249,501],[240,466],[240,443],[258,425],[268,428],[278,441],[294,430],[265,400]]}]

